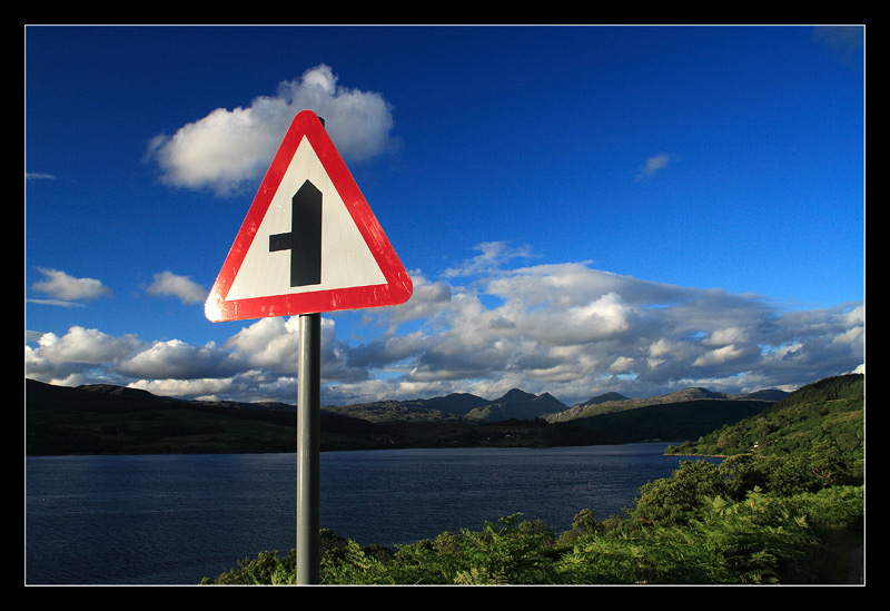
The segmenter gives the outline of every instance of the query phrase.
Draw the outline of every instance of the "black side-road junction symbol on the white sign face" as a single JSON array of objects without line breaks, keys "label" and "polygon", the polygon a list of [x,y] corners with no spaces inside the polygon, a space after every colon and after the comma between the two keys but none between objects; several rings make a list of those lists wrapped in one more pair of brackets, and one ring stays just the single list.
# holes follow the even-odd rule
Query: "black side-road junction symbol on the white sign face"
[{"label": "black side-road junction symbol on the white sign face", "polygon": [[290,199],[290,233],[269,236],[269,252],[290,250],[290,286],[322,284],[322,191],[306,180]]}]

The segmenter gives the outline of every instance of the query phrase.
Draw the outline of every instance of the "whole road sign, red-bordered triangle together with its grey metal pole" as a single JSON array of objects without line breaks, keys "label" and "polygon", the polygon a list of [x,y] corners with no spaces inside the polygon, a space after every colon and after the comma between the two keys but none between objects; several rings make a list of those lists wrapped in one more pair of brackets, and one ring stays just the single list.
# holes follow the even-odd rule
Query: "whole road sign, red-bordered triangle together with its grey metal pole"
[{"label": "whole road sign, red-bordered triangle together with its grey metal pole", "polygon": [[298,112],[204,306],[212,322],[300,317],[297,583],[320,574],[320,313],[404,304],[413,288],[324,119]]}]

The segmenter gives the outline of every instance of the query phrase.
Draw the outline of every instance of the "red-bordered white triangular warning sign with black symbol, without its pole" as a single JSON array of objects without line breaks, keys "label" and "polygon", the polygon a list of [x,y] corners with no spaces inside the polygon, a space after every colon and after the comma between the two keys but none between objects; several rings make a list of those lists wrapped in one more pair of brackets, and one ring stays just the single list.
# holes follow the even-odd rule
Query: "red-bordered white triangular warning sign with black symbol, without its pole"
[{"label": "red-bordered white triangular warning sign with black symbol, without its pole", "polygon": [[210,290],[212,322],[405,303],[413,284],[310,110],[290,124]]}]

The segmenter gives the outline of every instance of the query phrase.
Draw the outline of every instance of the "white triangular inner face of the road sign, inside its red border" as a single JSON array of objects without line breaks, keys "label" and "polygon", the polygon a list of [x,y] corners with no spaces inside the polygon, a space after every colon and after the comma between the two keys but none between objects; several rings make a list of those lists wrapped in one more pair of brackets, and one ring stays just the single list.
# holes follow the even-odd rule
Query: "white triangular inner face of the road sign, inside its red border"
[{"label": "white triangular inner face of the road sign, inside its red border", "polygon": [[[294,250],[270,250],[269,244],[271,236],[289,235],[300,224],[313,223],[312,213],[305,211],[304,217],[299,217],[303,210],[293,204],[294,197],[306,180],[322,194],[322,274],[319,283],[291,286]],[[307,242],[309,240],[293,246],[296,249],[314,247],[307,246]],[[386,278],[374,255],[359,234],[318,156],[304,137],[245,255],[226,300],[383,284],[386,284]]]}]

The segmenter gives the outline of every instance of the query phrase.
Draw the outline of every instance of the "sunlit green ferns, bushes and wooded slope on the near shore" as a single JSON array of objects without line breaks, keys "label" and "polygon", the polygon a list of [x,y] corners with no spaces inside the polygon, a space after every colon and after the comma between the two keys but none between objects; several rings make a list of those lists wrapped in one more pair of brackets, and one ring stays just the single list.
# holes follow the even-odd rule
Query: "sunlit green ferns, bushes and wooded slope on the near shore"
[{"label": "sunlit green ferns, bushes and wooded slope on the near shore", "polygon": [[[721,428],[746,450],[719,465],[682,461],[641,487],[624,515],[601,521],[585,510],[558,536],[518,514],[396,550],[323,531],[322,582],[847,583],[864,530],[862,386],[861,376],[823,381],[775,404],[765,426],[755,416]],[[704,454],[709,440],[681,447]],[[754,441],[769,451],[752,451]],[[202,583],[291,583],[294,574],[294,551],[265,552]]]}]

